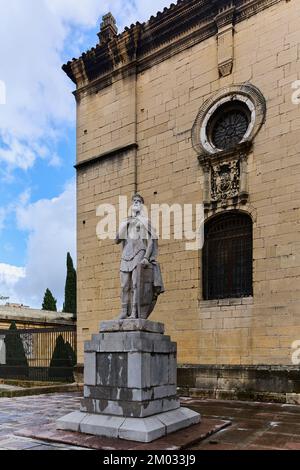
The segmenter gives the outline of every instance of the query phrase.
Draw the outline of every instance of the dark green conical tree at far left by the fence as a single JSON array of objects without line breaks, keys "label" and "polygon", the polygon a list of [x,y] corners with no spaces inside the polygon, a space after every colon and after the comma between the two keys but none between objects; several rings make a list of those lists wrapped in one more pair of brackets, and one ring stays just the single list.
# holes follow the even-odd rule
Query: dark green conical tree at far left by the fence
[{"label": "dark green conical tree at far left by the fence", "polygon": [[14,370],[17,367],[18,377],[26,378],[28,376],[28,361],[24,350],[21,336],[18,333],[16,323],[11,322],[8,333],[5,335],[6,366],[12,367],[11,376],[14,376]]}]

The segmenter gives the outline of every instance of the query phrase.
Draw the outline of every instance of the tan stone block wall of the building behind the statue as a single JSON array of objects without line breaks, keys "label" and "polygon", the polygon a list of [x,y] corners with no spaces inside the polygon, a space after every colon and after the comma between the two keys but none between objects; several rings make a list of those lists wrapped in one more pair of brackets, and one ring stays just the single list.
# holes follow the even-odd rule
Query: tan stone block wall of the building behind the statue
[{"label": "tan stone block wall of the building behind the statue", "polygon": [[[239,13],[229,12],[211,23],[214,34],[190,39],[189,47],[179,36],[168,56],[170,44],[153,46],[153,63],[141,64],[131,85],[116,75],[113,86],[78,98],[79,163],[127,146],[78,167],[81,357],[100,320],[119,311],[119,251],[97,240],[96,208],[137,186],[146,205],[204,203],[207,218],[236,209],[253,220],[253,298],[204,301],[201,253],[186,251],[185,240],[160,241],[166,293],[153,320],[177,341],[179,362],[291,364],[292,343],[300,340],[300,108],[291,100],[300,79],[300,4],[254,3],[256,14],[237,22]],[[197,116],[208,100],[232,87],[239,94],[243,85],[265,100],[265,109],[254,100],[259,129],[208,159],[195,150]],[[218,126],[214,132],[221,142]]]}]

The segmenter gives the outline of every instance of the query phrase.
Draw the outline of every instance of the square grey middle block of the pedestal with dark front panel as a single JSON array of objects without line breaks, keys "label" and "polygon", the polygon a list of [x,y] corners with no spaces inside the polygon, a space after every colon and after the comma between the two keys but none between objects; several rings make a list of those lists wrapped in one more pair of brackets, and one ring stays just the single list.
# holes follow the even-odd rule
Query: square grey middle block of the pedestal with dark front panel
[{"label": "square grey middle block of the pedestal with dark front panel", "polygon": [[[150,389],[176,385],[177,346],[168,336],[143,331],[100,333],[93,335],[85,349],[87,386]],[[130,397],[131,392],[122,393]]]}]

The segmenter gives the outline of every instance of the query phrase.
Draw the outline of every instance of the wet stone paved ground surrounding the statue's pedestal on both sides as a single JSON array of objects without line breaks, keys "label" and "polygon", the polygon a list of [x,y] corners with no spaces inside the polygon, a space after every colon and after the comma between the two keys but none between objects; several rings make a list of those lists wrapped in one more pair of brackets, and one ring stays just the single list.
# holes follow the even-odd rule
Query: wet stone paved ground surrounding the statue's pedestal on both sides
[{"label": "wet stone paved ground surrounding the statue's pedestal on both sides", "polygon": [[115,450],[300,450],[297,405],[182,398],[182,406],[201,413],[201,424],[139,444],[57,431],[56,420],[78,411],[81,397],[58,393],[0,398],[0,450],[14,444],[28,450],[111,450],[112,441]]}]

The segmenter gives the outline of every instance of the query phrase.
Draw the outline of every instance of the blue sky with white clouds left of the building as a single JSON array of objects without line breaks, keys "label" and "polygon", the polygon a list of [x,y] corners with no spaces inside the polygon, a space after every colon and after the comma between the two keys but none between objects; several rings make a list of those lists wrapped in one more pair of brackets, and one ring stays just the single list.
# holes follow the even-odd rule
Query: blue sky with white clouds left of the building
[{"label": "blue sky with white clouds left of the building", "polygon": [[74,84],[61,65],[97,43],[108,11],[122,31],[170,3],[0,0],[0,295],[10,302],[40,308],[50,288],[61,308],[67,251],[76,258]]}]

